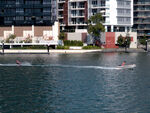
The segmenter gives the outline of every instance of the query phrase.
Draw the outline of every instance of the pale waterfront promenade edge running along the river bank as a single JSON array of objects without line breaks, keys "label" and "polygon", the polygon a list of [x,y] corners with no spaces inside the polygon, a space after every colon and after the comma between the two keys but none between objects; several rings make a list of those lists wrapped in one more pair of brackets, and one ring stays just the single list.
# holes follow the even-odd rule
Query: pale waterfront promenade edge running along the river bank
[{"label": "pale waterfront promenade edge running along the river bank", "polygon": [[[69,50],[60,50],[60,49],[50,49],[49,52],[46,49],[5,49],[5,54],[47,54],[47,53],[88,53],[88,52],[125,52],[124,49],[69,49]],[[146,52],[144,49],[127,49],[127,52],[137,53],[137,52]],[[1,52],[2,53],[2,50]]]}]

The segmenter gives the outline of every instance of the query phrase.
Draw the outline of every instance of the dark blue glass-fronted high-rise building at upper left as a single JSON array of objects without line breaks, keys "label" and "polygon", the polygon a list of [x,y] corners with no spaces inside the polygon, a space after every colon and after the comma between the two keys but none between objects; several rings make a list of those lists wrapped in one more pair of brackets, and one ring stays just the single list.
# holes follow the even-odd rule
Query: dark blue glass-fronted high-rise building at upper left
[{"label": "dark blue glass-fronted high-rise building at upper left", "polygon": [[0,25],[52,25],[52,4],[54,0],[0,0]]}]

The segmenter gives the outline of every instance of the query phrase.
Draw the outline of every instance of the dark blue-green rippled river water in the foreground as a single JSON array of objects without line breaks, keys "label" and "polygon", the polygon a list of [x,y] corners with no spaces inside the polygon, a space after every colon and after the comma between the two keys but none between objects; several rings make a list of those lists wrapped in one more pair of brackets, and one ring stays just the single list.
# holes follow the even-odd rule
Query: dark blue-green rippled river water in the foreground
[{"label": "dark blue-green rippled river water in the foreground", "polygon": [[[136,68],[105,69],[124,60]],[[0,64],[11,64],[0,66],[0,113],[150,112],[148,53],[1,55]]]}]

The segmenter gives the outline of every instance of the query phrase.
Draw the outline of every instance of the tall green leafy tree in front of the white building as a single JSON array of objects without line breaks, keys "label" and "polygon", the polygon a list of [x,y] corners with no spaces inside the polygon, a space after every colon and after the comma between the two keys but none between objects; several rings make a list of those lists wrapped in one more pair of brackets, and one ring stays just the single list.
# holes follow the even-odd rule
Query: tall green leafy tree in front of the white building
[{"label": "tall green leafy tree in front of the white building", "polygon": [[105,31],[104,19],[100,13],[91,16],[88,20],[88,33],[94,37],[95,41],[100,41],[101,32]]}]

